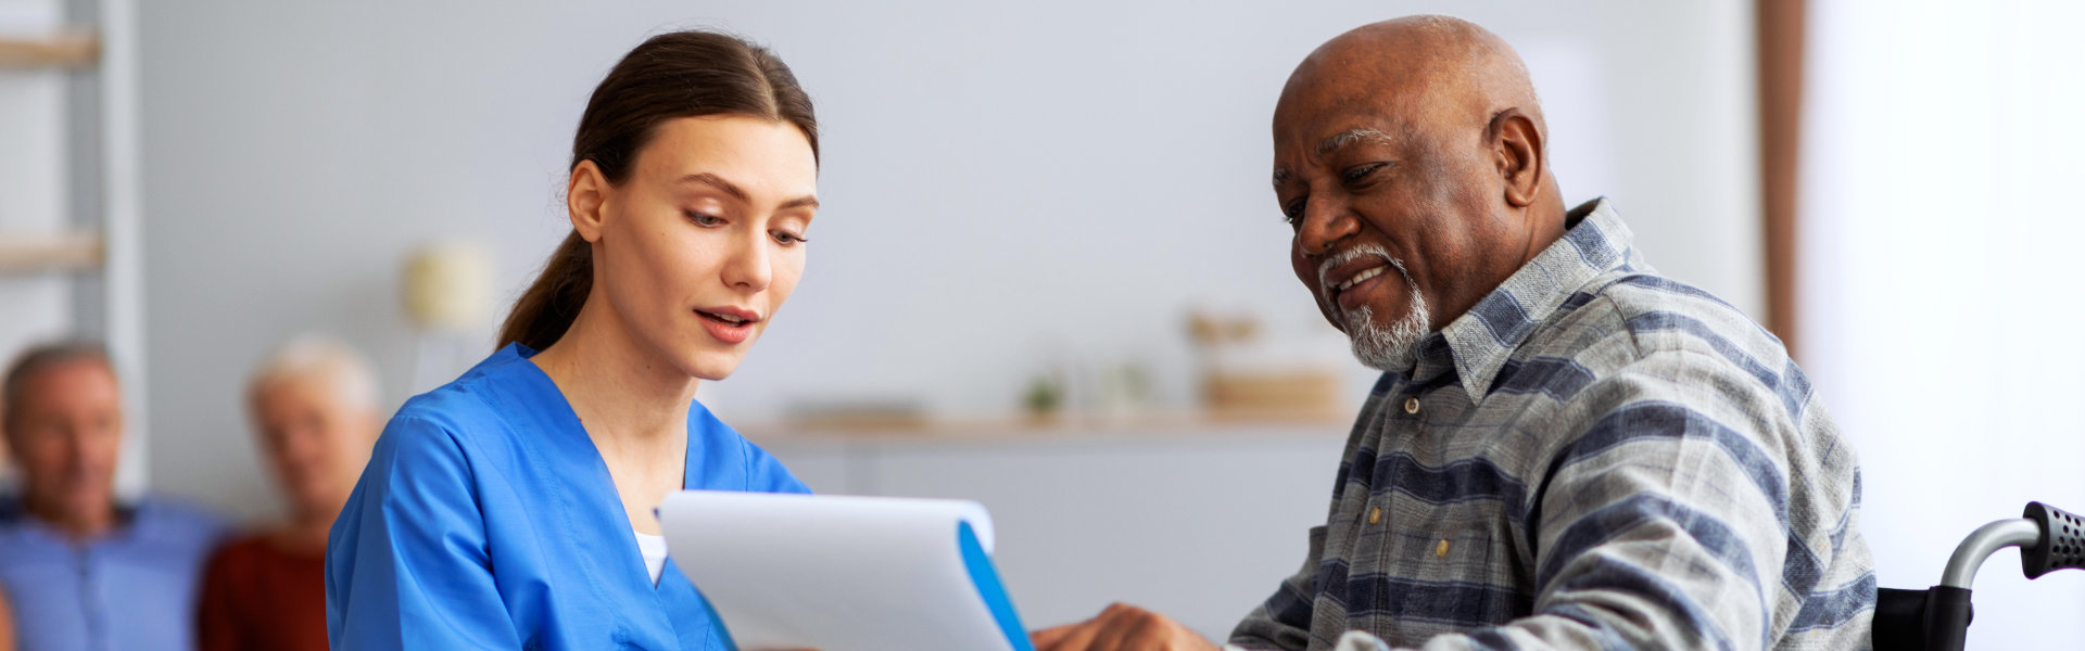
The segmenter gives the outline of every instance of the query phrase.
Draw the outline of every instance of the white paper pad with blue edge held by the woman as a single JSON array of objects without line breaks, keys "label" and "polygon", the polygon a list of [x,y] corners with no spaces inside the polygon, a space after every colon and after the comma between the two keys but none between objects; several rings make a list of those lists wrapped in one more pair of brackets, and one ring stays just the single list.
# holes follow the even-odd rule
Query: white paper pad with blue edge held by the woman
[{"label": "white paper pad with blue edge held by the woman", "polygon": [[974,501],[682,490],[659,522],[738,649],[1032,651]]}]

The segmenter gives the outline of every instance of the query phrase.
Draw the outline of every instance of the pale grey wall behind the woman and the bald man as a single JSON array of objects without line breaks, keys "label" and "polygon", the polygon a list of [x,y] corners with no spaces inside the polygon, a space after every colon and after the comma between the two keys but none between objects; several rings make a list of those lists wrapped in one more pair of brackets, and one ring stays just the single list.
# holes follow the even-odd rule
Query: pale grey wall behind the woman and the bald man
[{"label": "pale grey wall behind the woman and the bald man", "polygon": [[819,104],[826,154],[807,280],[705,401],[734,419],[826,396],[1001,413],[1070,353],[1143,359],[1180,405],[1191,305],[1328,332],[1284,263],[1268,119],[1316,44],[1418,10],[1528,54],[1568,200],[1614,196],[1662,269],[1760,303],[1737,0],[146,2],[154,486],[269,509],[238,390],[292,332],[367,346],[400,401],[400,257],[471,238],[502,298],[519,290],[567,227],[586,94],[682,25],[771,44]]}]

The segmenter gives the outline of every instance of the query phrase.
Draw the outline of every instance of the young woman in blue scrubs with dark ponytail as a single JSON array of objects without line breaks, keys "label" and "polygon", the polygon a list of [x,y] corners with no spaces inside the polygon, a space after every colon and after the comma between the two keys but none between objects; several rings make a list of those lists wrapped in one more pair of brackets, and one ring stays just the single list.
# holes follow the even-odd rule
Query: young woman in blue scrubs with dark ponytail
[{"label": "young woman in blue scrubs with dark ponytail", "polygon": [[817,123],[790,69],[646,40],[586,104],[565,202],[509,344],[407,401],[334,524],[334,649],[721,649],[653,507],[807,492],[694,401],[803,273]]}]

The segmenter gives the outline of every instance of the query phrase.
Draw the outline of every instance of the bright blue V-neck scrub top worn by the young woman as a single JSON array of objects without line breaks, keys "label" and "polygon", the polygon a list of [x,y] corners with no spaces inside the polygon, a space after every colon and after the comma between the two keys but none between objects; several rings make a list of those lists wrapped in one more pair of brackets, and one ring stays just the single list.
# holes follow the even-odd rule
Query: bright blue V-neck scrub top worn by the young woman
[{"label": "bright blue V-neck scrub top worn by the young woman", "polygon": [[[653,586],[609,467],[521,344],[392,415],[325,549],[334,649],[723,649]],[[686,488],[811,492],[701,403]]]}]

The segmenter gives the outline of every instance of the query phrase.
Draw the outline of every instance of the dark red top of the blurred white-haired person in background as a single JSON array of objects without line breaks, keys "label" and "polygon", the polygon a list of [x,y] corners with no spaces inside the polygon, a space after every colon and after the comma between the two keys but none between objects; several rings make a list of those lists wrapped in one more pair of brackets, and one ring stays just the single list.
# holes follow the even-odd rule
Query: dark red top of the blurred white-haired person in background
[{"label": "dark red top of the blurred white-haired person in background", "polygon": [[325,651],[325,551],[234,538],[211,555],[196,611],[198,651]]}]

